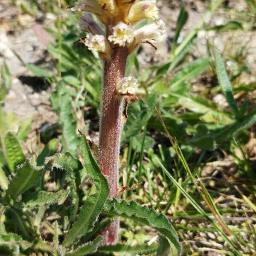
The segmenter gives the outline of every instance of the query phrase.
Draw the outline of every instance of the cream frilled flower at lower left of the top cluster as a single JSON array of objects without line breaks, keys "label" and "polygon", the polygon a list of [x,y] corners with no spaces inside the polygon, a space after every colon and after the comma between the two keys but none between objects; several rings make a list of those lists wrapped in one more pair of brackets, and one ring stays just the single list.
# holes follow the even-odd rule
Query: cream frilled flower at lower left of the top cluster
[{"label": "cream frilled flower at lower left of the top cluster", "polygon": [[99,52],[100,57],[107,60],[111,57],[111,48],[104,35],[93,35],[88,33],[86,38],[81,38],[89,50]]}]

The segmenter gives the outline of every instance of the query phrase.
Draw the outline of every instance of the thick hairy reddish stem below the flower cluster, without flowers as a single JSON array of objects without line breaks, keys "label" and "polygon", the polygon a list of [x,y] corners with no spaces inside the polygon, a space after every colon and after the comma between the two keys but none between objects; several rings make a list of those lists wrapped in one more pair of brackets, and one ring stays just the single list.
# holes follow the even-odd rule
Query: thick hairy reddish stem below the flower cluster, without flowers
[{"label": "thick hairy reddish stem below the flower cluster, without flowers", "polygon": [[[98,161],[103,175],[108,180],[109,198],[116,195],[118,189],[118,160],[122,132],[122,100],[116,98],[116,84],[125,76],[127,49],[113,49],[111,60],[105,61],[102,107],[99,128]],[[116,218],[103,232],[105,244],[115,244],[119,228]]]}]

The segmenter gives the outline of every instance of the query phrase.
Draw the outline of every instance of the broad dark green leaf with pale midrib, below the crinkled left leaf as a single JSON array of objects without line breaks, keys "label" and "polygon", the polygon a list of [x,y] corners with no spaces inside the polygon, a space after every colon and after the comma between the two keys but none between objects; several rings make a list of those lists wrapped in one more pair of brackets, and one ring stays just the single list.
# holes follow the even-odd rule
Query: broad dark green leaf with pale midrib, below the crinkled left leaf
[{"label": "broad dark green leaf with pale midrib, below the crinkled left leaf", "polygon": [[17,168],[16,176],[10,181],[6,195],[16,199],[20,194],[30,189],[38,182],[44,171],[44,166],[33,166],[32,160],[27,159],[25,163]]}]

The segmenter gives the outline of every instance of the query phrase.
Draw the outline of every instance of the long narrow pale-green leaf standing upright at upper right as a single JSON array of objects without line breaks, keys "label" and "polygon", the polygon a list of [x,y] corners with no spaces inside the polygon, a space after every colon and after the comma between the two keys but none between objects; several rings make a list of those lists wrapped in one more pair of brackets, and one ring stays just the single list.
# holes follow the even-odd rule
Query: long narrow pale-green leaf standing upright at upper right
[{"label": "long narrow pale-green leaf standing upright at upper right", "polygon": [[224,61],[221,58],[221,54],[217,48],[214,49],[214,52],[216,57],[216,72],[218,76],[218,81],[221,86],[221,90],[224,93],[224,96],[227,100],[228,105],[230,106],[230,109],[235,115],[237,115],[239,110],[237,108],[236,101],[233,96],[232,86],[227,76]]}]

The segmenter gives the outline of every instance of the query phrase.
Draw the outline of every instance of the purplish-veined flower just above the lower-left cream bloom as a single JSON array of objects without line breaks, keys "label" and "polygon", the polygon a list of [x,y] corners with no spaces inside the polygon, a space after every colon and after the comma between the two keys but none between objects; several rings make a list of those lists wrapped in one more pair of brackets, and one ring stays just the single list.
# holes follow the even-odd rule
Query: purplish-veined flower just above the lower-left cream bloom
[{"label": "purplish-veined flower just above the lower-left cream bloom", "polygon": [[95,20],[93,20],[92,15],[90,15],[89,13],[85,14],[84,16],[81,16],[78,23],[81,31],[92,33],[93,35],[104,34],[102,28],[99,26],[98,23],[96,23]]}]

